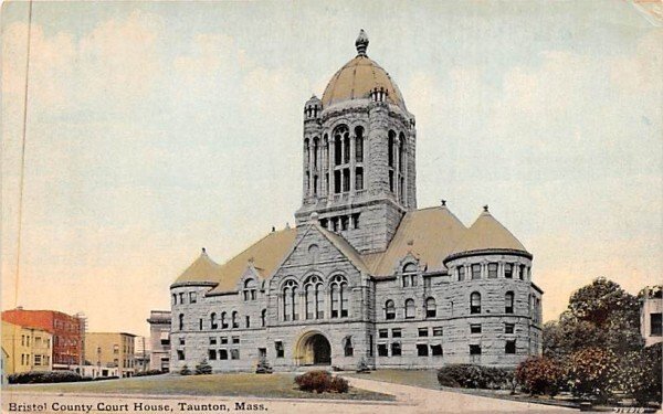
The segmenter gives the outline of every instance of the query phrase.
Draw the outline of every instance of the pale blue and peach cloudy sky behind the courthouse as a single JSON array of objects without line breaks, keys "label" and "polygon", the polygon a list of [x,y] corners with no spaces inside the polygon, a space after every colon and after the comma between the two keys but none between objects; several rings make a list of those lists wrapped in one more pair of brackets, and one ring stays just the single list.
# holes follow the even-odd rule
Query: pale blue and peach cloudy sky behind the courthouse
[{"label": "pale blue and peach cloudy sky behind the courthouse", "polygon": [[628,1],[2,6],[2,309],[147,335],[207,247],[219,263],[302,197],[304,103],[356,55],[417,117],[420,208],[491,212],[534,254],[544,319],[598,276],[663,268],[663,34]]}]

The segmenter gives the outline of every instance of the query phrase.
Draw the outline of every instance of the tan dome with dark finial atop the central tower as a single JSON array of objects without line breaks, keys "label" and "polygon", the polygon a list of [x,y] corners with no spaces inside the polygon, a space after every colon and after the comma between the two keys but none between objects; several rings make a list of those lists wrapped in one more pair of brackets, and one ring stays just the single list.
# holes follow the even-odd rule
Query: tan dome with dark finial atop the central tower
[{"label": "tan dome with dark finial atop the central tower", "polygon": [[323,106],[327,108],[346,100],[369,98],[371,91],[383,88],[387,92],[387,102],[407,110],[396,83],[379,64],[366,55],[368,38],[364,30],[355,44],[357,57],[346,63],[332,76],[323,94]]}]

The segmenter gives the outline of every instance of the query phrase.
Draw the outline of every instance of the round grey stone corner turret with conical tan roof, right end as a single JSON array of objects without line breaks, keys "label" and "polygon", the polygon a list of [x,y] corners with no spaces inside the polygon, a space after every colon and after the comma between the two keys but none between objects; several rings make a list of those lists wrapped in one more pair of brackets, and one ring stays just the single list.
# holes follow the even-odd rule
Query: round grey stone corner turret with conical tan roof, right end
[{"label": "round grey stone corner turret with conical tan roof, right end", "polygon": [[532,283],[532,259],[485,205],[444,259],[452,314],[445,352],[450,362],[515,365],[540,354],[543,291]]}]

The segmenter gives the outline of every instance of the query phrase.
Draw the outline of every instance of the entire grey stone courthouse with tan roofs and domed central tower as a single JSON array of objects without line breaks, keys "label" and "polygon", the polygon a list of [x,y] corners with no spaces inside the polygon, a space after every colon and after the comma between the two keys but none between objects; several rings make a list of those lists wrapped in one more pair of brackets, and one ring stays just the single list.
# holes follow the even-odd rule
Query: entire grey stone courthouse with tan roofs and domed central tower
[{"label": "entire grey stone courthouse with tan roofs and domed central tower", "polygon": [[[170,286],[170,370],[514,367],[541,351],[533,255],[484,206],[466,227],[417,209],[414,116],[368,57],[304,107],[296,226],[223,265],[202,251]],[[480,209],[477,209],[480,210]]]}]

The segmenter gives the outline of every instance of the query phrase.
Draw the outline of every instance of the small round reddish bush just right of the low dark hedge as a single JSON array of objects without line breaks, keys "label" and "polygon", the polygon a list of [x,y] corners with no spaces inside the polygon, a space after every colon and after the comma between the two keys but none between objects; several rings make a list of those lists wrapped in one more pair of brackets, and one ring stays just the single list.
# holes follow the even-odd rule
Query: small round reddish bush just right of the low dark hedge
[{"label": "small round reddish bush just right of the low dark hedge", "polygon": [[564,371],[557,361],[546,357],[532,357],[518,364],[516,380],[523,391],[555,396],[562,384]]}]

